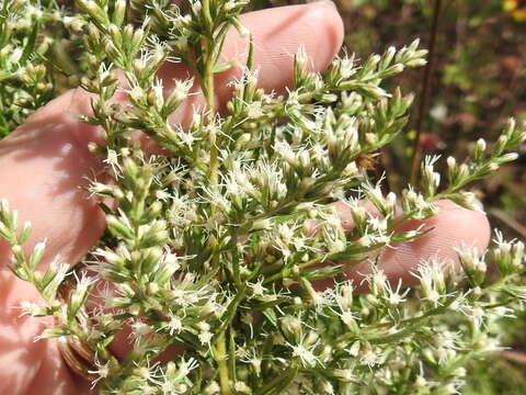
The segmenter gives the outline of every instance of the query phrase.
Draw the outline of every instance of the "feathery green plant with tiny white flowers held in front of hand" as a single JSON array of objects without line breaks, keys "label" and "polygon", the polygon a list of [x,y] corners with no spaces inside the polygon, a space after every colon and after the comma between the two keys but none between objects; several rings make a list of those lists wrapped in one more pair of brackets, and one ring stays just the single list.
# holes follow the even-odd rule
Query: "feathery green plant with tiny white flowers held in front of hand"
[{"label": "feathery green plant with tiny white flowers held in front of hand", "polygon": [[[186,14],[170,1],[77,5],[81,83],[94,94],[93,115],[83,121],[104,131],[104,144],[90,148],[112,177],[93,181],[90,192],[116,202],[103,205],[107,236],[87,258],[89,270],[69,275],[58,261],[36,270],[45,244],[23,252],[31,226],[21,229],[4,201],[0,236],[12,246],[14,274],[45,301],[25,304],[25,313],[57,319],[41,338],[69,339],[71,361],[101,393],[455,394],[469,361],[500,350],[502,319],[526,298],[523,242],[495,233],[488,252],[458,246],[460,273],[448,261],[421,262],[413,290],[389,283],[376,259],[430,232],[399,228],[435,215],[439,199],[479,210],[462,189],[517,158],[508,150],[526,139],[524,126],[510,120],[490,149],[479,139],[472,159],[447,158],[443,174],[439,158],[427,157],[420,185],[384,193],[384,179],[361,159],[408,122],[412,95],[384,80],[425,63],[418,42],[363,63],[338,58],[323,75],[308,71],[299,52],[284,95],[256,88],[249,55],[218,112],[215,75],[233,67],[218,63],[228,30],[252,52],[238,20],[244,2],[196,1]],[[157,78],[162,64],[178,59],[206,98],[187,128],[170,114],[194,81],[176,80],[165,94]],[[135,129],[169,155],[145,153]],[[351,212],[351,230],[335,201]],[[369,293],[357,294],[364,285],[342,273],[367,259]],[[320,287],[327,279],[333,286]],[[71,291],[62,294],[68,280]],[[100,280],[111,286],[93,312],[85,302]],[[123,326],[133,349],[117,359],[108,345]],[[184,351],[159,361],[173,345]]]}]

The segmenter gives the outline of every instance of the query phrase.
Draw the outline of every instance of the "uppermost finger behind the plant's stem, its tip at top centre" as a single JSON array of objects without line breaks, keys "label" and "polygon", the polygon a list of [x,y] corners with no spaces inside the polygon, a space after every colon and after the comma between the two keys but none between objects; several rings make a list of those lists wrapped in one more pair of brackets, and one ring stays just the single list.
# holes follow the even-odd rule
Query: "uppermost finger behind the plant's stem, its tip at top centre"
[{"label": "uppermost finger behind the plant's stem, its tip at top centre", "polygon": [[[285,87],[290,87],[294,55],[300,47],[311,61],[310,70],[321,71],[331,64],[343,43],[343,22],[330,1],[250,12],[241,15],[241,24],[252,34],[258,87],[267,92],[282,92]],[[216,76],[215,93],[219,104],[230,99],[229,82],[242,75],[247,56],[248,38],[231,29],[219,61],[237,66]],[[173,79],[188,78],[192,72],[181,65],[167,64],[160,76],[170,89]],[[194,92],[198,94],[191,97],[175,112],[183,126],[190,123],[194,109],[205,104],[198,87]]]}]

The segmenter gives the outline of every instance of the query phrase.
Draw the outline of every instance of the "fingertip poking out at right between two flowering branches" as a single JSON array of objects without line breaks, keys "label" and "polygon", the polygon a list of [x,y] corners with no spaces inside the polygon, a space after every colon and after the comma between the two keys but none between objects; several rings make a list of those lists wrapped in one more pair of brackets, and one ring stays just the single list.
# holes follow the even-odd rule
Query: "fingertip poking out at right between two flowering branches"
[{"label": "fingertip poking out at right between two flowering branches", "polygon": [[[404,286],[418,284],[418,266],[431,260],[448,262],[459,269],[455,247],[468,245],[484,251],[488,247],[491,229],[488,218],[480,212],[462,208],[450,201],[437,203],[439,213],[425,221],[411,221],[398,228],[399,232],[411,229],[432,229],[426,235],[411,242],[385,248],[379,257],[378,268],[384,271],[391,284],[402,281]],[[348,212],[348,211],[347,211]],[[356,285],[362,284],[366,274],[370,273],[371,263],[362,262],[346,272]],[[358,291],[366,291],[365,284]]]}]

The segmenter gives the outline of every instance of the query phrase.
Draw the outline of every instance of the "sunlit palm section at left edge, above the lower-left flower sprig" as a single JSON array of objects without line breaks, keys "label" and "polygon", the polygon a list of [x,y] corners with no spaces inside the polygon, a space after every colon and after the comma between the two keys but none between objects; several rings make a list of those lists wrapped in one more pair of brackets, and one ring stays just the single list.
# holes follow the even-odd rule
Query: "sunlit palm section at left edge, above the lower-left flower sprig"
[{"label": "sunlit palm section at left edge, above the lower-left flower sprig", "polygon": [[[87,126],[68,113],[73,91],[43,108],[24,126],[0,140],[0,199],[32,223],[26,251],[47,238],[43,263],[60,255],[73,263],[96,242],[104,221],[80,189],[98,178],[99,163],[82,142]],[[0,240],[0,268],[10,249]]]}]

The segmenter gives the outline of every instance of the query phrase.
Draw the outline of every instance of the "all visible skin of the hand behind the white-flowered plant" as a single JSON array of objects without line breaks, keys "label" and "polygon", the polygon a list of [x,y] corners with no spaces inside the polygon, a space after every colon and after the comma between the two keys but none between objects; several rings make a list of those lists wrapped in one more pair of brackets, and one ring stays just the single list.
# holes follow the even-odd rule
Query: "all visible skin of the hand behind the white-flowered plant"
[{"label": "all visible skin of the hand behind the white-flowered plant", "polygon": [[[329,2],[295,5],[249,13],[243,24],[253,32],[255,64],[260,69],[260,86],[267,91],[283,91],[290,83],[293,58],[300,45],[312,59],[313,70],[323,70],[338,53],[343,41],[343,24]],[[244,40],[231,32],[225,47],[225,58],[243,60]],[[218,77],[217,101],[229,97],[227,82],[239,76],[239,69]],[[165,65],[161,76],[185,78],[188,70],[181,65]],[[169,82],[169,81],[167,81]],[[195,87],[198,92],[198,87]],[[87,143],[99,140],[98,131],[78,121],[77,115],[89,113],[89,95],[80,90],[69,91],[34,113],[12,135],[0,142],[0,199],[7,199],[19,211],[21,223],[31,221],[33,234],[26,251],[47,238],[42,266],[57,255],[60,261],[75,264],[99,239],[104,217],[94,202],[79,187],[87,178],[102,178],[102,166],[87,149]],[[196,94],[173,115],[183,125],[193,105],[202,105]],[[455,264],[453,247],[461,241],[485,248],[490,230],[485,216],[464,210],[451,202],[441,202],[441,213],[424,223],[434,228],[427,236],[385,251],[380,267],[391,281],[404,280],[422,259],[439,257]],[[342,219],[350,213],[339,205]],[[422,223],[413,222],[405,228]],[[347,225],[351,226],[351,225]],[[46,319],[20,317],[22,301],[39,302],[31,284],[18,280],[8,269],[10,248],[0,240],[0,393],[5,395],[88,394],[89,386],[71,374],[60,358],[55,340],[34,342]],[[359,282],[369,268],[361,264],[347,273]],[[118,353],[126,348],[119,345]]]}]

